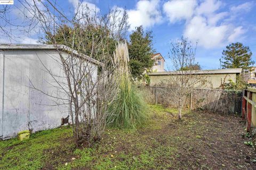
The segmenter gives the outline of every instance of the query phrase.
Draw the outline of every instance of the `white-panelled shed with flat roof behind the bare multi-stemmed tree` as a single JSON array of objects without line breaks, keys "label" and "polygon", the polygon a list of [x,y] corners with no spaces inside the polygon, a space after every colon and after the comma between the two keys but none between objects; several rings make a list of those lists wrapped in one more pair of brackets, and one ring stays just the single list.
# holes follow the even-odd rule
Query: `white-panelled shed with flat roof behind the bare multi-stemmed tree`
[{"label": "white-panelled shed with flat roof behind the bare multi-stemmed tree", "polygon": [[[63,45],[58,50],[63,57],[71,52]],[[92,77],[96,80],[100,62],[75,50],[72,52],[92,66]],[[0,140],[15,137],[22,130],[57,128],[62,118],[69,115],[67,106],[57,106],[52,97],[45,95],[64,94],[46,71],[46,68],[51,70],[52,74],[60,75],[60,82],[66,82],[61,77],[63,68],[59,57],[53,45],[0,44]],[[45,94],[30,88],[31,84]]]}]

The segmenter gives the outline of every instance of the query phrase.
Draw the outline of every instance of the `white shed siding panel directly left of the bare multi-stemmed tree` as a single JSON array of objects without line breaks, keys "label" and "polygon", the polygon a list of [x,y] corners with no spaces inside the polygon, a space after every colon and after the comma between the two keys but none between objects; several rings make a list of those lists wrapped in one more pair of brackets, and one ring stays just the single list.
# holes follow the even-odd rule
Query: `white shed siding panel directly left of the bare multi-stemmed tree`
[{"label": "white shed siding panel directly left of the bare multi-stemmed tree", "polygon": [[35,60],[30,61],[30,82],[40,91],[30,89],[29,128],[33,131],[56,128],[61,125],[61,118],[68,116],[68,108],[58,106],[54,102],[56,99],[50,97],[60,91],[49,73],[51,71],[54,75],[63,75],[61,66],[55,61],[59,56],[55,50],[38,50],[34,55]]}]

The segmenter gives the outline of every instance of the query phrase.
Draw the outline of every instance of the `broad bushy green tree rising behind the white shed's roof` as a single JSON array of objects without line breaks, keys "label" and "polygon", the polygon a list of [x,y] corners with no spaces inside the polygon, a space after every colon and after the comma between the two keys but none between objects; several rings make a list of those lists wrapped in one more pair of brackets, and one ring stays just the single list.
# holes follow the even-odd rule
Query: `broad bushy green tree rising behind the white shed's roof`
[{"label": "broad bushy green tree rising behind the white shed's roof", "polygon": [[[53,40],[55,42],[52,42]],[[81,42],[83,43],[81,44]],[[106,56],[113,55],[117,40],[111,37],[108,29],[100,25],[91,24],[82,27],[77,24],[74,27],[70,27],[67,24],[62,24],[55,33],[47,32],[45,37],[41,39],[41,43],[64,44],[102,62],[102,60],[108,60]],[[102,47],[99,47],[99,45]]]}]

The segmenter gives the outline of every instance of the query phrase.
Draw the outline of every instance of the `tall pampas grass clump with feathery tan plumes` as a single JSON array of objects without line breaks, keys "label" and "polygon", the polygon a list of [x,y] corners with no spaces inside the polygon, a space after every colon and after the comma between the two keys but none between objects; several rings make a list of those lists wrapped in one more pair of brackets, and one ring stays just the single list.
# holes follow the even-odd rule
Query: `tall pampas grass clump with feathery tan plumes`
[{"label": "tall pampas grass clump with feathery tan plumes", "polygon": [[109,105],[107,123],[115,128],[135,128],[147,121],[147,105],[131,82],[129,53],[126,43],[118,43],[114,54],[118,93]]}]

